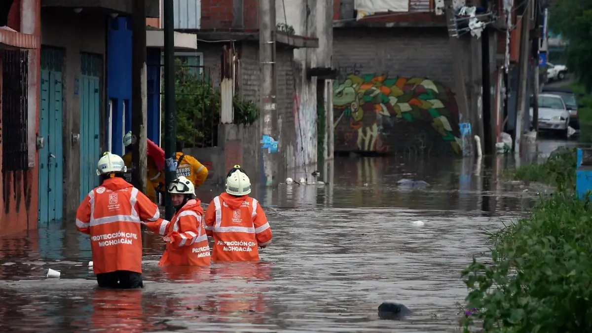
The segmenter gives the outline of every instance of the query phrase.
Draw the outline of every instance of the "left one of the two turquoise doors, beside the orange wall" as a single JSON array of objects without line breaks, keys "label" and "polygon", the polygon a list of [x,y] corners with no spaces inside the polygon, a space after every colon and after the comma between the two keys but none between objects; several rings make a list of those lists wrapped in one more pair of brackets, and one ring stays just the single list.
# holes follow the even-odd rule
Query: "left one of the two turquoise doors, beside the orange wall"
[{"label": "left one of the two turquoise doors, beside the orange wall", "polygon": [[62,65],[63,50],[41,48],[39,222],[63,216]]}]

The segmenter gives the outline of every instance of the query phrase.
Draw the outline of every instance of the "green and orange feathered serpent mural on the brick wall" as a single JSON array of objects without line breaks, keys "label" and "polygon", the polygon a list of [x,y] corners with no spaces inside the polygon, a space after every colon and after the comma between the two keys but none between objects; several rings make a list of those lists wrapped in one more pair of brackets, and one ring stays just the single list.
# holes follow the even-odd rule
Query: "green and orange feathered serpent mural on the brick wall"
[{"label": "green and orange feathered serpent mural on the brick wall", "polygon": [[333,108],[335,151],[462,153],[456,100],[439,82],[349,74]]}]

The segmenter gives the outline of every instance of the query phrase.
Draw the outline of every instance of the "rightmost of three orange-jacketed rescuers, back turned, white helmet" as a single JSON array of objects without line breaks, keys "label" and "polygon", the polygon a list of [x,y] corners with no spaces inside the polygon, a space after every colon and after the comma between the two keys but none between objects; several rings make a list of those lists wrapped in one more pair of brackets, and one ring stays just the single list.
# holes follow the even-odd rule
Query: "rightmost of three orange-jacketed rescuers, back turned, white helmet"
[{"label": "rightmost of three orange-jacketed rescuers, back turned, white helmet", "polygon": [[249,177],[235,165],[226,177],[226,193],[215,197],[205,212],[205,232],[214,238],[214,261],[257,261],[258,246],[271,244],[265,213],[249,193]]}]

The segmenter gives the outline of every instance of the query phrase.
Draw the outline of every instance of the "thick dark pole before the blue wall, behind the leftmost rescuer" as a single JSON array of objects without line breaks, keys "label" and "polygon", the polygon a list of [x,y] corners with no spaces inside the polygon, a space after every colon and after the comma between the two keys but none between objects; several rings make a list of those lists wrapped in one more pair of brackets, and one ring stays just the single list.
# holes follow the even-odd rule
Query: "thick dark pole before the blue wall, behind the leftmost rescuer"
[{"label": "thick dark pole before the blue wall, behind the leftmost rescuer", "polygon": [[146,193],[146,4],[132,1],[131,44],[131,133],[136,136],[131,151],[131,181]]}]

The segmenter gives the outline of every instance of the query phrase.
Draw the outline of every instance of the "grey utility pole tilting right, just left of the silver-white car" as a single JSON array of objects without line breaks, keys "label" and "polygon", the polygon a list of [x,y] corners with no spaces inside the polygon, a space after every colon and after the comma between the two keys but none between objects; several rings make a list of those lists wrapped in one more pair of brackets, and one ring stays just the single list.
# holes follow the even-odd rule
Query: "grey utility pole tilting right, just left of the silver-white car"
[{"label": "grey utility pole tilting right, just left of the silver-white car", "polygon": [[520,144],[522,143],[522,124],[524,122],[524,114],[526,108],[526,82],[528,76],[528,59],[529,59],[529,30],[530,30],[530,7],[533,0],[523,0],[528,2],[525,6],[520,21],[520,56],[518,60],[518,96],[516,98],[516,138],[514,139],[514,152],[520,153]]}]

